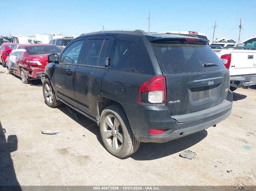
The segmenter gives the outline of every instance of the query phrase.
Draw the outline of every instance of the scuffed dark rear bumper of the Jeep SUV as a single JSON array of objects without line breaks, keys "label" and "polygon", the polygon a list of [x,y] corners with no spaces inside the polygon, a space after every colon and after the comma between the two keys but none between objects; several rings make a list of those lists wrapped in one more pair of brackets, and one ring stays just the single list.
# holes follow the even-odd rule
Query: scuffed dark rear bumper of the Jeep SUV
[{"label": "scuffed dark rear bumper of the Jeep SUV", "polygon": [[[199,132],[226,119],[232,109],[232,92],[228,92],[226,101],[203,111],[172,116],[165,106],[138,107],[138,112],[127,113],[135,138],[140,142],[167,142]],[[165,107],[166,108],[166,107]],[[126,109],[125,109],[126,110]],[[176,119],[174,119],[174,117]],[[166,129],[161,135],[150,135],[150,129]]]}]

